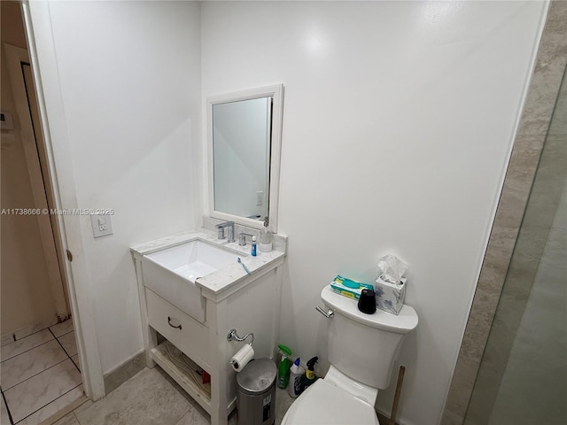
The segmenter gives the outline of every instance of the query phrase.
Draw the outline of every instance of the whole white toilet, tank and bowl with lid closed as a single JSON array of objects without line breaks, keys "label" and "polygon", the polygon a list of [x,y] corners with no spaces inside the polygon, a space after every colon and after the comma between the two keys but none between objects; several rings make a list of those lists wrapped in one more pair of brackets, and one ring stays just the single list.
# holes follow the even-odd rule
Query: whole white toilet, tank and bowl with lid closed
[{"label": "whole white toilet, tank and bowl with lid closed", "polygon": [[356,300],[330,286],[321,298],[333,311],[329,372],[293,402],[282,425],[379,425],[374,410],[378,390],[390,383],[404,336],[417,326],[416,311],[404,305],[398,316],[382,310],[361,313]]}]

